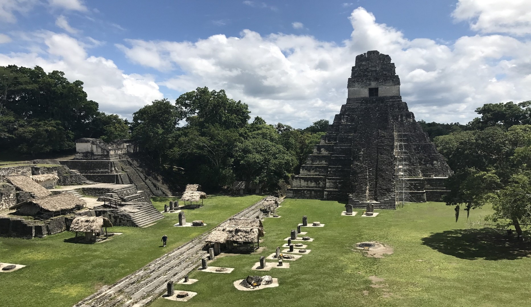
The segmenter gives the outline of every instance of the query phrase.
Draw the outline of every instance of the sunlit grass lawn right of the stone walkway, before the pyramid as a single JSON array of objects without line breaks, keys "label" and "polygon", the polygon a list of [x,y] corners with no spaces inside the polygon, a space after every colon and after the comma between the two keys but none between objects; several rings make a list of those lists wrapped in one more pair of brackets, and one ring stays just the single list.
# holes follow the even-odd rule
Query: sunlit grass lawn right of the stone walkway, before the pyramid
[{"label": "sunlit grass lawn right of the stone walkway, before the pyramid", "polygon": [[[455,222],[454,211],[442,203],[410,204],[398,210],[376,210],[376,217],[340,216],[336,201],[287,199],[281,218],[266,218],[265,250],[253,255],[225,256],[211,266],[233,267],[230,274],[194,271],[192,285],[175,290],[197,292],[189,302],[158,299],[162,306],[528,306],[531,302],[529,252],[507,244],[503,235],[468,227],[466,212]],[[475,209],[469,221],[490,213]],[[320,221],[322,228],[303,228],[312,251],[289,269],[251,270],[259,256],[286,243],[301,223]],[[496,238],[496,239],[493,239]],[[394,249],[383,258],[367,258],[353,250],[356,242],[378,241]],[[529,251],[529,249],[527,249]],[[272,260],[268,260],[272,261]],[[247,275],[271,275],[279,287],[238,291],[233,282]],[[370,276],[383,281],[371,287]]]}]

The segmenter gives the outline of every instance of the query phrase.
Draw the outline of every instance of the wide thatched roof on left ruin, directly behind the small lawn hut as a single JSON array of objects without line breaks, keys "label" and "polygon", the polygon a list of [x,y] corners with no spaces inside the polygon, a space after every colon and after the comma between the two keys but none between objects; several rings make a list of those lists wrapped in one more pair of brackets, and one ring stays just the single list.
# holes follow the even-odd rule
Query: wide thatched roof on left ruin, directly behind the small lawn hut
[{"label": "wide thatched roof on left ruin, directly behind the small lawn hut", "polygon": [[31,211],[33,212],[33,214],[35,214],[40,210],[40,208],[48,210],[50,212],[61,212],[63,210],[71,210],[75,207],[83,207],[85,205],[87,205],[87,203],[83,199],[76,197],[72,194],[62,193],[37,199],[26,200],[22,203],[16,204],[11,208],[20,207],[19,211],[21,213],[23,213],[22,211]]}]

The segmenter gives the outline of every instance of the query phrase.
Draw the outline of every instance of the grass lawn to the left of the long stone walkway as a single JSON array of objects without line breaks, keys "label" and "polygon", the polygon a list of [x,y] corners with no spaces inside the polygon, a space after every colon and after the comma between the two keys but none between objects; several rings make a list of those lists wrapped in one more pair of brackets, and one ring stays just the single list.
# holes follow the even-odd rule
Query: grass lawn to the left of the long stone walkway
[{"label": "grass lawn to the left of the long stone walkway", "polygon": [[[63,232],[42,239],[0,238],[0,260],[27,267],[0,273],[0,306],[70,307],[96,292],[102,285],[114,284],[164,253],[212,229],[229,216],[260,200],[262,196],[214,196],[199,209],[186,210],[186,220],[203,220],[206,227],[173,227],[178,214],[147,228],[112,227],[123,232],[103,243],[66,243],[74,236]],[[173,198],[155,197],[160,210]],[[168,246],[160,238],[168,235]]]}]

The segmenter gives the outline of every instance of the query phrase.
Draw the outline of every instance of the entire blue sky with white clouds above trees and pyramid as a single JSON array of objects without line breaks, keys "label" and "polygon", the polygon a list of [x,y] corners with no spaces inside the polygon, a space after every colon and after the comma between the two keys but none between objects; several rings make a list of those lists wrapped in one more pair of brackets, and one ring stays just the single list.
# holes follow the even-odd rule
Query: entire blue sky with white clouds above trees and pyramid
[{"label": "entire blue sky with white clouds above trees and pyramid", "polygon": [[225,89],[303,128],[346,101],[355,56],[389,54],[417,119],[531,100],[529,0],[0,0],[0,65],[64,71],[100,109]]}]

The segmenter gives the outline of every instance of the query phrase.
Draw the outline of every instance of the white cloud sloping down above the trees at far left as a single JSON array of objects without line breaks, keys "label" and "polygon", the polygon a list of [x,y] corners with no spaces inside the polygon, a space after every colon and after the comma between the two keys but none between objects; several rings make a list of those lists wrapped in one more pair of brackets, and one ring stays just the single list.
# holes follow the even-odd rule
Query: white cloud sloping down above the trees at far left
[{"label": "white cloud sloping down above the trees at far left", "polygon": [[28,36],[41,43],[44,51],[0,54],[1,66],[38,65],[46,72],[63,71],[68,80],[84,82],[88,99],[98,102],[100,110],[129,118],[145,104],[163,98],[154,77],[125,74],[112,60],[88,55],[88,45],[78,39],[50,31]]}]

